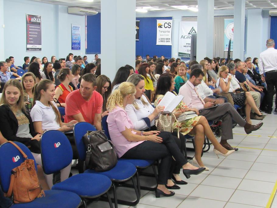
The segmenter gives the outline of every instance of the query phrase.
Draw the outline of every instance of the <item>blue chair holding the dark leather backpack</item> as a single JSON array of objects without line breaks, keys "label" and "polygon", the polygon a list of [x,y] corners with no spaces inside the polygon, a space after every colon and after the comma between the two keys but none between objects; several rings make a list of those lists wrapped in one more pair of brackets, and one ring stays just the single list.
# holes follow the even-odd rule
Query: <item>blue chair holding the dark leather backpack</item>
[{"label": "blue chair holding the dark leather backpack", "polygon": [[[84,145],[82,137],[87,133],[87,131],[96,131],[96,128],[87,122],[79,122],[74,126],[74,129],[73,129],[75,144],[78,150],[78,157],[79,157],[79,160],[81,161],[85,161],[86,159],[86,147]],[[114,199],[112,200],[114,201],[115,208],[117,208],[117,203],[128,205],[128,206],[135,206],[138,204],[140,195],[134,181],[134,176],[136,172],[137,172],[137,169],[132,163],[121,161],[121,160],[118,160],[115,167],[113,167],[108,171],[96,171],[93,169],[87,169],[84,171],[84,173],[103,174],[103,175],[106,175],[108,178],[110,178],[114,189],[113,190]],[[132,181],[132,184],[133,184],[132,187],[135,188],[136,201],[134,202],[117,199],[117,192],[116,192],[117,184],[121,184],[122,182],[128,181],[129,179],[131,179]]]}]

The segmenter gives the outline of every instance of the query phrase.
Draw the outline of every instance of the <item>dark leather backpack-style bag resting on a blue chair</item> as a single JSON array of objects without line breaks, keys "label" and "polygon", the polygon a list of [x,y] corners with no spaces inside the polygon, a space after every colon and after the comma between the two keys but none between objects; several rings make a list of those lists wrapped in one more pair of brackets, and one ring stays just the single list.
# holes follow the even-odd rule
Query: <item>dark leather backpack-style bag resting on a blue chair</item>
[{"label": "dark leather backpack-style bag resting on a blue chair", "polygon": [[103,131],[87,131],[83,136],[86,146],[86,169],[107,171],[117,163],[117,156],[113,145]]}]

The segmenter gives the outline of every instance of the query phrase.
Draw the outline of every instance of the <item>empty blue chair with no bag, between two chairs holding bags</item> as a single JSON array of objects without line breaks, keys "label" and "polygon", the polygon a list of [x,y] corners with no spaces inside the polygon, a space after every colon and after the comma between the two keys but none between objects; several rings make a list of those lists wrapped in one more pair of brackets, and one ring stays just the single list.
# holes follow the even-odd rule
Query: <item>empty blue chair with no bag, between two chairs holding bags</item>
[{"label": "empty blue chair with no bag, between two chairs holding bags", "polygon": [[52,190],[64,190],[79,195],[85,208],[85,199],[95,199],[106,194],[110,207],[113,207],[108,193],[112,183],[107,176],[82,173],[61,181],[60,170],[67,167],[73,157],[70,142],[65,134],[58,130],[44,132],[41,136],[40,149],[44,173],[54,174]]}]

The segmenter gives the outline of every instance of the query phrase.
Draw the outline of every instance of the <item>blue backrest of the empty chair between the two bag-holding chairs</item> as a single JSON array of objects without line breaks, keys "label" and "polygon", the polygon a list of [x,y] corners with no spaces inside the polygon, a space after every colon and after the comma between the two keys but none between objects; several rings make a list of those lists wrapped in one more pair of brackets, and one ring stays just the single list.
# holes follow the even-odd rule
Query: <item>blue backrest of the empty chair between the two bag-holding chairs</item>
[{"label": "blue backrest of the empty chair between the two bag-holding chairs", "polygon": [[42,134],[40,152],[44,173],[48,175],[67,167],[73,158],[68,138],[58,130],[50,130]]}]

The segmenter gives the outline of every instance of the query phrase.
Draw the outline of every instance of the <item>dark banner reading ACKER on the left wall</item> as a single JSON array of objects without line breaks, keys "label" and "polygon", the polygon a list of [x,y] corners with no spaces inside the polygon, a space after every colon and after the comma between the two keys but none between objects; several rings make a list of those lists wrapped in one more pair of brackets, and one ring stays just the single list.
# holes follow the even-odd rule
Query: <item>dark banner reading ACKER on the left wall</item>
[{"label": "dark banner reading ACKER on the left wall", "polygon": [[26,14],[26,51],[41,51],[41,16]]}]

